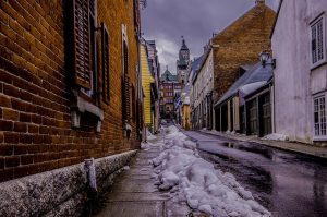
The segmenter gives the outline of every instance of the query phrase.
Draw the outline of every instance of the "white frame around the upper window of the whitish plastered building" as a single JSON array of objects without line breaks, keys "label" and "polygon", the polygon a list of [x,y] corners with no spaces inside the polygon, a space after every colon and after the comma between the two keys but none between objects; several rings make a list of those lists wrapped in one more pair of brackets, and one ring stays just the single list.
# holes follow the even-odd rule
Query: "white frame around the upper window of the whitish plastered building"
[{"label": "white frame around the upper window of the whitish plastered building", "polygon": [[[310,62],[311,62],[311,69],[315,69],[324,63],[326,63],[326,17],[325,13],[319,14],[316,16],[312,22],[310,22]],[[312,50],[312,28],[313,26],[317,25],[317,23],[322,21],[323,22],[323,59],[318,60],[317,62],[313,62],[313,50]]]}]

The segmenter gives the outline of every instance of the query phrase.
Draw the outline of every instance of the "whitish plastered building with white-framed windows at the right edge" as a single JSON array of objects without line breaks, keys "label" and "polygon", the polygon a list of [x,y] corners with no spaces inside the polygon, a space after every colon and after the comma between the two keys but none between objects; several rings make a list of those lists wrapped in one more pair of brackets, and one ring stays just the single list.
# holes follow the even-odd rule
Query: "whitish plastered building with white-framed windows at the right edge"
[{"label": "whitish plastered building with white-framed windows at the right edge", "polygon": [[271,35],[275,132],[292,141],[327,141],[326,13],[326,0],[281,1],[278,10]]}]

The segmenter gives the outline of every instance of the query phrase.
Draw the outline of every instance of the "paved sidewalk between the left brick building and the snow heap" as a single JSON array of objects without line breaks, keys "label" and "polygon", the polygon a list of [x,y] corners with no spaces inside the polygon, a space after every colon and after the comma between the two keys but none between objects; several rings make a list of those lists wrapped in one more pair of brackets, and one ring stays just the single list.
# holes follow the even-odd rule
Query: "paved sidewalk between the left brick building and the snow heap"
[{"label": "paved sidewalk between the left brick building and the snow heap", "polygon": [[167,192],[160,192],[152,179],[149,159],[157,157],[159,147],[140,150],[105,196],[105,203],[96,217],[173,217],[194,216],[189,206],[177,204]]}]

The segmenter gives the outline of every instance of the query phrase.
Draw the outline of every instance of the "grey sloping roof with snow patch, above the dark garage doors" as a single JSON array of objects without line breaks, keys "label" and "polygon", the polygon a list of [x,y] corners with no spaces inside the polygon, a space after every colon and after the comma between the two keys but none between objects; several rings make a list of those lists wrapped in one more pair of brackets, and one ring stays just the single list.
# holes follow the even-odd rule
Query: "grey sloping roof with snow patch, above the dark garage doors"
[{"label": "grey sloping roof with snow patch, above the dark garage doors", "polygon": [[272,77],[272,67],[267,64],[265,68],[261,62],[247,70],[233,85],[222,95],[215,105],[220,105],[239,93],[246,96],[264,86]]}]

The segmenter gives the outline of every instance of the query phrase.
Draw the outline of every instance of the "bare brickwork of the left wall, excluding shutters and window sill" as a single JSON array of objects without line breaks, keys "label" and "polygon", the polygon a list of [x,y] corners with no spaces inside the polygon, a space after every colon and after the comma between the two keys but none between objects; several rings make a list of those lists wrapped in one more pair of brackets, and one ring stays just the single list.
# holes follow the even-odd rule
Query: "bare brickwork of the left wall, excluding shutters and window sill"
[{"label": "bare brickwork of the left wall, excluding shutters and window sill", "polygon": [[71,126],[63,2],[0,1],[0,181],[138,146],[135,121],[132,138],[124,138],[121,113],[121,23],[128,26],[130,76],[136,86],[133,2],[98,1],[98,24],[105,22],[110,35],[110,103],[99,105],[105,113],[100,133]]}]

